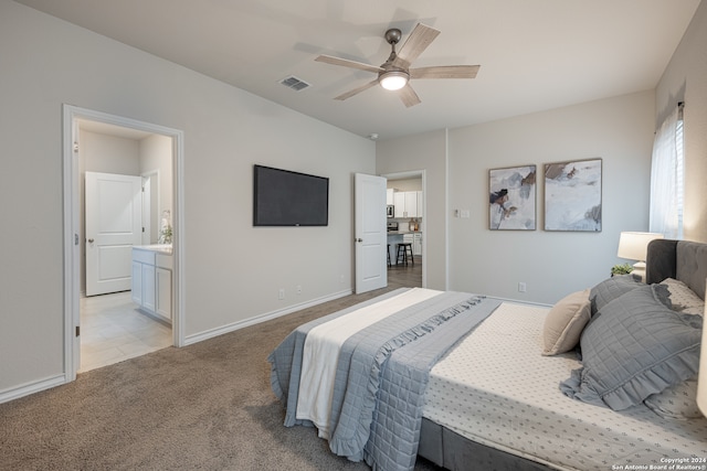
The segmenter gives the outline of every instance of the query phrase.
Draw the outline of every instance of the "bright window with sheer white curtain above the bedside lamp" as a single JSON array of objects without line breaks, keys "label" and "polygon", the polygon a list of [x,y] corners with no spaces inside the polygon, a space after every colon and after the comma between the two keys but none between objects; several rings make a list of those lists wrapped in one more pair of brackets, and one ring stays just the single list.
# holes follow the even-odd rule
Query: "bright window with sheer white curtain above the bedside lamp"
[{"label": "bright window with sheer white curtain above the bedside lamp", "polygon": [[683,238],[684,147],[683,106],[655,132],[651,168],[650,231]]}]

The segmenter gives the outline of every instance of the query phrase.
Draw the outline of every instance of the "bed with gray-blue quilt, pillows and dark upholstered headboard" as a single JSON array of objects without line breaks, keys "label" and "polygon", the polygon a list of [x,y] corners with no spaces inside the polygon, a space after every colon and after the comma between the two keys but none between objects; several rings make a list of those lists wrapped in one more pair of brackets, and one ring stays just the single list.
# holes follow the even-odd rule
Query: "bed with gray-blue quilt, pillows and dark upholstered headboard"
[{"label": "bed with gray-blue quilt, pillows and dark upholstered headboard", "polygon": [[707,244],[646,264],[552,308],[400,289],[300,325],[268,356],[285,426],[373,470],[706,469]]}]

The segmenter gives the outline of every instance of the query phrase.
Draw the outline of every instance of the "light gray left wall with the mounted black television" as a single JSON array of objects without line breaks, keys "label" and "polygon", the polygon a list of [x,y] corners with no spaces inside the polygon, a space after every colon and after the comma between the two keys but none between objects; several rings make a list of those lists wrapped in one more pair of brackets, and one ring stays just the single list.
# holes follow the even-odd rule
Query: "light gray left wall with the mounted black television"
[{"label": "light gray left wall with the mounted black television", "polygon": [[[370,140],[10,0],[0,63],[0,397],[64,374],[63,104],[183,131],[187,338],[351,292]],[[328,176],[329,226],[252,227],[254,163]]]}]

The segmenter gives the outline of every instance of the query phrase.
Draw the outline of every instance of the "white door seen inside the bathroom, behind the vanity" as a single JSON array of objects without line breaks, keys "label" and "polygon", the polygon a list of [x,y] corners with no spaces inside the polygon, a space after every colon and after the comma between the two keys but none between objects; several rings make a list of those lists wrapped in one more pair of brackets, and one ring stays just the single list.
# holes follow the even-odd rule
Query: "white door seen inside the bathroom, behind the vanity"
[{"label": "white door seen inside the bathroom, behind the vanity", "polygon": [[86,172],[86,296],[130,289],[141,243],[140,176]]}]

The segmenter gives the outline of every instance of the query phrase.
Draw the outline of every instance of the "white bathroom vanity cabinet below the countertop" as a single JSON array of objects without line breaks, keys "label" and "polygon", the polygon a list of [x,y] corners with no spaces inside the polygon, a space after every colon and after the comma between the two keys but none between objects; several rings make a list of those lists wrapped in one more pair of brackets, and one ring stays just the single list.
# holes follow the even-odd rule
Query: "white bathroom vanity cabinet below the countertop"
[{"label": "white bathroom vanity cabinet below the countertop", "polygon": [[172,256],[150,246],[133,247],[133,302],[152,315],[172,320]]}]

